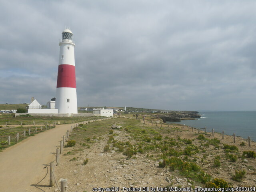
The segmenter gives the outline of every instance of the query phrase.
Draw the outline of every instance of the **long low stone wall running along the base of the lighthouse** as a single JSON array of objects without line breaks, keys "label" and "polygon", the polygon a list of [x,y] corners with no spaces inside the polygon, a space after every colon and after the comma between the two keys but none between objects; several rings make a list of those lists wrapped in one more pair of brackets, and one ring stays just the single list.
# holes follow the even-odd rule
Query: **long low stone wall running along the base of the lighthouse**
[{"label": "long low stone wall running along the base of the lighthouse", "polygon": [[92,113],[78,113],[78,114],[55,114],[55,113],[15,113],[15,117],[20,115],[31,115],[34,117],[91,117],[91,116],[100,116],[100,114]]}]

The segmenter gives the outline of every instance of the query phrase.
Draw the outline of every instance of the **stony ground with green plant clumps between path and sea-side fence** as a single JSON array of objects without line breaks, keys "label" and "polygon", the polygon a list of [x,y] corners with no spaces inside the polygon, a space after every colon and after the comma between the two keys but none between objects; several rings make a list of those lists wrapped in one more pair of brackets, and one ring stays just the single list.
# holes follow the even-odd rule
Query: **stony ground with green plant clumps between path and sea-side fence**
[{"label": "stony ground with green plant clumps between path and sea-side fence", "polygon": [[[122,128],[112,129],[113,124]],[[202,140],[198,139],[200,134],[204,136]],[[220,134],[215,134],[215,141],[220,141],[218,143],[210,134],[200,134],[192,130],[183,131],[183,126],[161,128],[125,118],[81,125],[70,137],[70,140],[76,140],[76,145],[64,148],[60,165],[55,167],[58,185],[61,178],[68,179],[70,192],[90,192],[92,188],[99,187],[201,188],[206,182],[213,182],[214,178],[224,179],[234,187],[256,185],[255,158],[242,156],[243,151],[255,152],[255,143],[248,147],[247,141],[237,138],[234,144],[231,136],[222,140]],[[241,142],[246,146],[240,146]],[[225,150],[224,144],[234,145],[238,151]],[[189,148],[191,153],[187,151]],[[131,156],[127,149],[134,149]],[[236,162],[228,159],[231,154],[237,157]],[[196,164],[200,170],[183,172],[178,167],[173,170],[168,159],[175,156],[187,165]],[[214,163],[216,157],[220,166]],[[86,159],[87,164],[84,162]],[[161,164],[164,159],[167,165],[162,168],[159,162]],[[234,181],[235,170],[245,170],[246,174],[239,181]],[[206,182],[198,178],[202,171]],[[56,186],[44,187],[43,190],[58,191]]]}]

